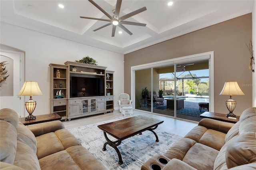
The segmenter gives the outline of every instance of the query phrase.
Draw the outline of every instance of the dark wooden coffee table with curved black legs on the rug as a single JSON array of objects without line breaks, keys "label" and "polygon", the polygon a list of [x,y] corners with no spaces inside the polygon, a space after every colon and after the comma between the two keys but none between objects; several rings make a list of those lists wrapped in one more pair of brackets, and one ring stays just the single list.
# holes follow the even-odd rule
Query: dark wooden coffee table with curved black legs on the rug
[{"label": "dark wooden coffee table with curved black legs on the rug", "polygon": [[[164,121],[160,121],[157,119],[152,119],[149,117],[143,117],[143,116],[135,116],[130,117],[127,119],[122,119],[120,121],[115,121],[111,123],[106,123],[103,125],[98,125],[98,128],[103,130],[104,136],[107,140],[106,143],[103,145],[102,150],[106,150],[106,145],[108,144],[112,148],[114,148],[118,154],[119,158],[119,164],[122,164],[122,156],[120,154],[120,151],[118,150],[117,146],[119,146],[122,142],[122,140],[126,138],[130,138],[136,134],[142,134],[142,132],[149,130],[154,133],[156,136],[156,142],[158,142],[158,136],[156,132],[154,132],[154,129],[158,127],[159,124],[163,123]],[[113,136],[116,138],[116,141],[112,141],[108,138],[107,133],[110,136]]]}]

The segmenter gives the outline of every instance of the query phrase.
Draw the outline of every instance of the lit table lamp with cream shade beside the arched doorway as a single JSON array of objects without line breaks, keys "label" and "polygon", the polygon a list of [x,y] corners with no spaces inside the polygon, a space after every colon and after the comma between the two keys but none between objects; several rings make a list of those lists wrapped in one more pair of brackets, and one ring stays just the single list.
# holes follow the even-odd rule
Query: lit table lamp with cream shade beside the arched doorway
[{"label": "lit table lamp with cream shade beside the arched doorway", "polygon": [[36,101],[32,100],[32,95],[42,95],[42,92],[37,82],[25,81],[17,96],[30,96],[29,101],[25,102],[26,110],[29,113],[28,117],[25,118],[26,121],[36,119],[36,117],[32,115],[36,108]]}]

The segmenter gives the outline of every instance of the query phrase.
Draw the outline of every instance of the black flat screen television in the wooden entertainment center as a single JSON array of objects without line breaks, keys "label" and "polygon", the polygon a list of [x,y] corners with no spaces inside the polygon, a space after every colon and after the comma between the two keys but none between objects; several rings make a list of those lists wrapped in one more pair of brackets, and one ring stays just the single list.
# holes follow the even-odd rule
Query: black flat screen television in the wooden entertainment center
[{"label": "black flat screen television in the wooden entertainment center", "polygon": [[104,96],[104,78],[70,77],[70,97]]}]

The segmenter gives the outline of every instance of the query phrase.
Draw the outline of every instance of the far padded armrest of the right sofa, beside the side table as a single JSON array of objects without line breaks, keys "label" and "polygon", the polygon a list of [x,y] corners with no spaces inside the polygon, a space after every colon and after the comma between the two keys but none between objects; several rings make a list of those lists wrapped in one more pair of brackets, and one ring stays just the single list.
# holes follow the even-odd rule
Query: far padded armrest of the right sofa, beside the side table
[{"label": "far padded armrest of the right sofa, beside the side table", "polygon": [[234,123],[228,123],[228,122],[217,121],[214,119],[204,118],[198,123],[198,125],[206,128],[210,128],[213,130],[217,130],[219,132],[227,133],[228,130],[232,126],[234,126]]}]

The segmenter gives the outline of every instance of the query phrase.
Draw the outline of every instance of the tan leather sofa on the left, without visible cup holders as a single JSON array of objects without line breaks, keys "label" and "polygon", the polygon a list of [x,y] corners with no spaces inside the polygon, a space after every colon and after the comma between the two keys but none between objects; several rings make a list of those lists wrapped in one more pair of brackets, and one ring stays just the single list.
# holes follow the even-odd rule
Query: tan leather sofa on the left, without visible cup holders
[{"label": "tan leather sofa on the left, without visible cup holders", "polygon": [[24,126],[11,109],[0,110],[1,170],[105,170],[61,121]]}]

